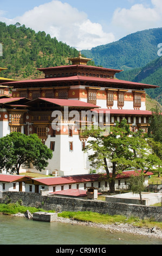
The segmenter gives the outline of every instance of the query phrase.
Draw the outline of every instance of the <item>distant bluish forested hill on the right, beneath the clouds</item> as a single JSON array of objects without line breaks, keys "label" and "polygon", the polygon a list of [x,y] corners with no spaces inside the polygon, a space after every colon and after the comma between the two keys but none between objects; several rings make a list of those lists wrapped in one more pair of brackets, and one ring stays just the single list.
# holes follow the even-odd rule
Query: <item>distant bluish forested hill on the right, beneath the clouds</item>
[{"label": "distant bluish forested hill on the right, beneath the clouds", "polygon": [[162,28],[147,29],[125,36],[111,44],[92,50],[83,50],[87,58],[93,58],[96,65],[105,68],[141,68],[158,57],[158,44],[162,43]]}]

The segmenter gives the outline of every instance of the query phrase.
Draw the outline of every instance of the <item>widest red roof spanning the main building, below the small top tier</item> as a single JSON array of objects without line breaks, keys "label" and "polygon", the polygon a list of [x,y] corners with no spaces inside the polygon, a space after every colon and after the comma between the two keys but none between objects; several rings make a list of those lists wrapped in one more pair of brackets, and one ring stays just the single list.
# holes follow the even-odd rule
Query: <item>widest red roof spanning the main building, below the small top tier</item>
[{"label": "widest red roof spanning the main building, below the small top tier", "polygon": [[[70,76],[70,77],[51,77],[51,78],[40,78],[40,79],[33,79],[33,80],[22,80],[18,82],[9,82],[5,84],[13,85],[14,84],[22,84],[22,83],[48,83],[48,82],[58,82],[58,81],[90,81],[90,82],[102,82],[114,85],[115,87],[118,87],[119,85],[126,86],[127,88],[129,86],[138,86],[141,88],[157,88],[159,86],[153,86],[151,84],[145,84],[145,83],[136,83],[131,81],[125,81],[125,80],[118,80],[113,78],[100,78],[100,77],[87,77],[87,76]],[[3,84],[3,83],[2,83]]]}]

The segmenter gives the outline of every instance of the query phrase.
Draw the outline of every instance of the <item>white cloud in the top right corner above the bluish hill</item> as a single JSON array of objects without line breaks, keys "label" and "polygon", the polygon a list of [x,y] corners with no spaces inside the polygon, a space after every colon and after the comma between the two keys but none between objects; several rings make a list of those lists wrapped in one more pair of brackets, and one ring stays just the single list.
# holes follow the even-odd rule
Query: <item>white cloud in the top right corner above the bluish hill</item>
[{"label": "white cloud in the top right corner above the bluish hill", "polygon": [[152,0],[153,8],[144,4],[134,4],[130,9],[118,8],[114,11],[112,26],[122,28],[121,33],[129,34],[144,29],[161,27],[162,1]]}]

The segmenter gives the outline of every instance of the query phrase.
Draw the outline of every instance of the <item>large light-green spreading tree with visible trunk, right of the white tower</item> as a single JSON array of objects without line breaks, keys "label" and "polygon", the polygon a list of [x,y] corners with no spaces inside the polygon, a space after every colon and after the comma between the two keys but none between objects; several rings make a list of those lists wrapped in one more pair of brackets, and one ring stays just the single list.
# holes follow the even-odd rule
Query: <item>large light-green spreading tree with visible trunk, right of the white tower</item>
[{"label": "large light-green spreading tree with visible trunk, right of the white tower", "polygon": [[[150,146],[141,131],[131,132],[127,120],[110,127],[108,136],[100,129],[85,130],[83,136],[89,137],[84,149],[93,168],[105,168],[109,182],[109,192],[115,192],[115,177],[124,170],[150,170],[155,159],[150,153]],[[111,166],[108,164],[111,163]]]}]

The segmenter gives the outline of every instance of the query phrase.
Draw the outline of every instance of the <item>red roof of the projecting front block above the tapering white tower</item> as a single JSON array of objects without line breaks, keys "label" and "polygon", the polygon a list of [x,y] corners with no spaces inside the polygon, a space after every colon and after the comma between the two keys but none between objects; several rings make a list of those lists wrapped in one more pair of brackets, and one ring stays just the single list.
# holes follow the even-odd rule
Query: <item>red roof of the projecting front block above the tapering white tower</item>
[{"label": "red roof of the projecting front block above the tapering white tower", "polygon": [[30,102],[28,102],[28,104],[33,104],[35,101],[37,100],[44,100],[59,106],[68,106],[68,107],[97,107],[99,108],[99,106],[84,102],[84,101],[80,101],[80,100],[63,100],[63,99],[49,99],[49,98],[38,98],[35,100],[31,100]]}]

